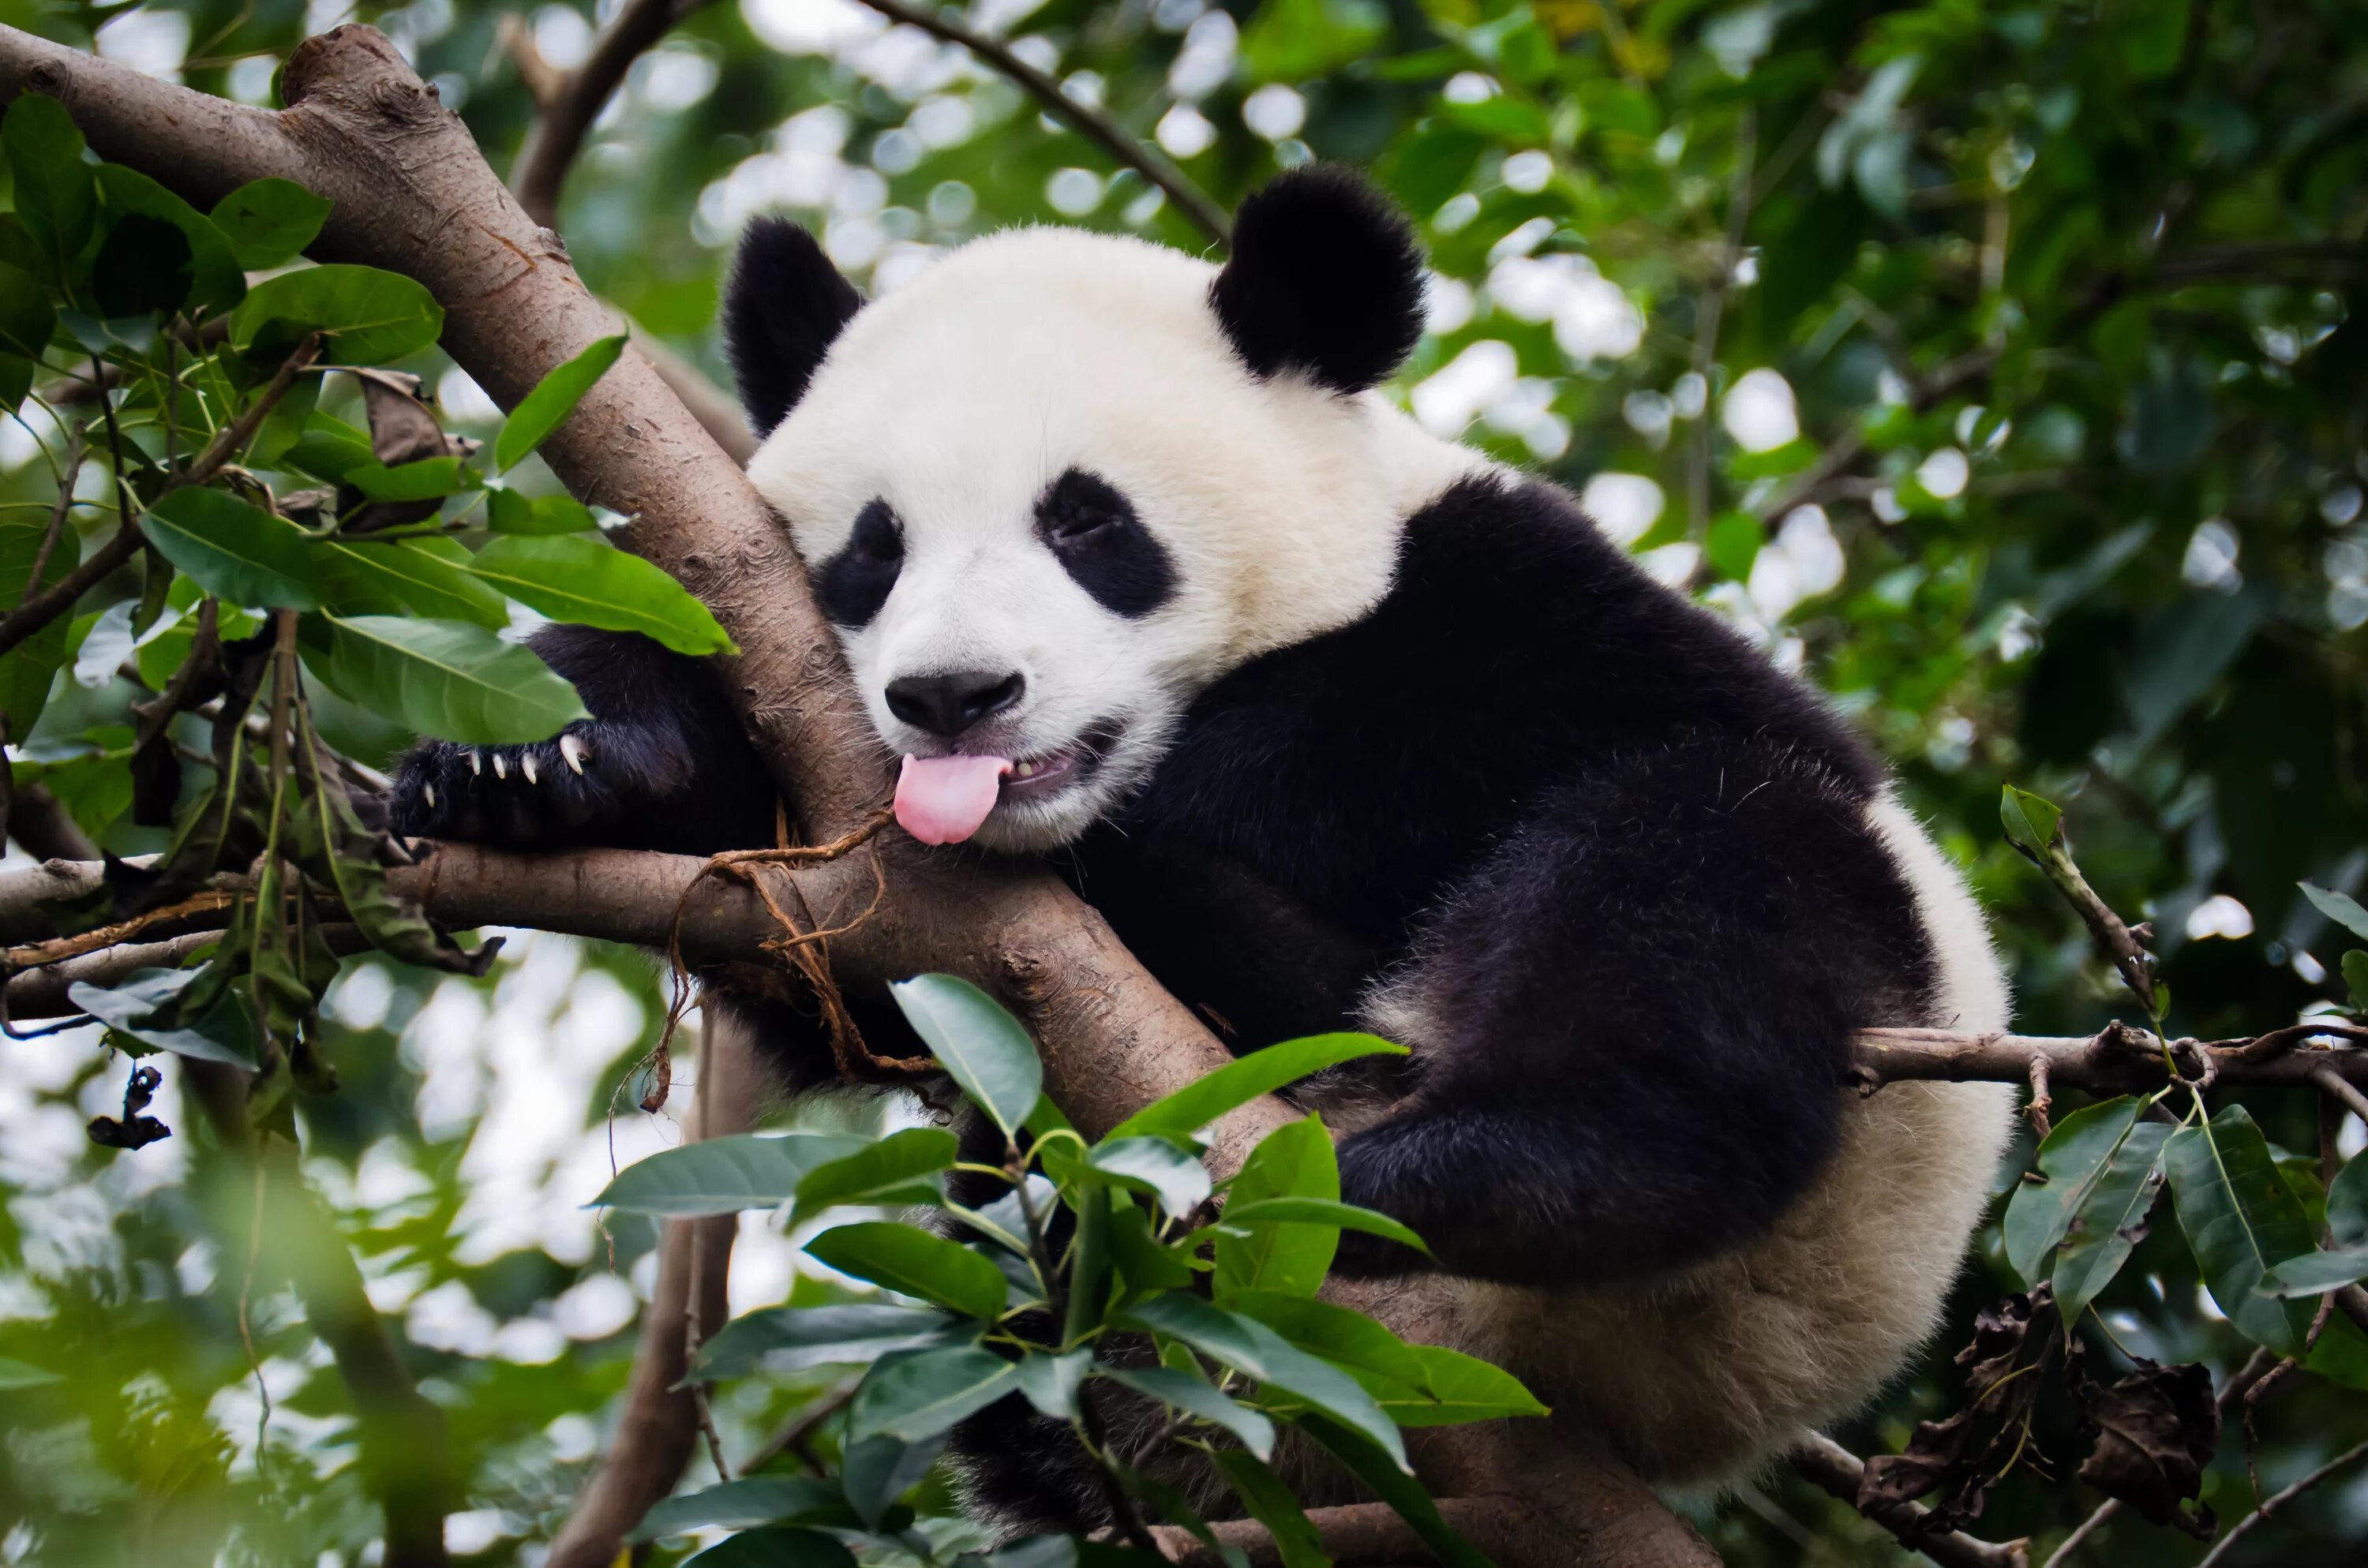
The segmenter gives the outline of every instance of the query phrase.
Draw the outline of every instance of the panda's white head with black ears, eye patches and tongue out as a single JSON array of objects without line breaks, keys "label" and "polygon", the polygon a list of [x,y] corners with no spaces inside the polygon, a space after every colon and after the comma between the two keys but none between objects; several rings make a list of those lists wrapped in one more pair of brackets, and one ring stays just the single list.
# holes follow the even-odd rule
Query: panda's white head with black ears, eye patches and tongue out
[{"label": "panda's white head with black ears, eye patches and tongue out", "polygon": [[748,476],[881,741],[919,758],[900,808],[945,808],[916,831],[1066,843],[1208,682],[1373,606],[1428,438],[1369,388],[1421,296],[1404,218],[1321,166],[1241,206],[1224,268],[1011,230],[864,306],[803,230],[748,230]]}]

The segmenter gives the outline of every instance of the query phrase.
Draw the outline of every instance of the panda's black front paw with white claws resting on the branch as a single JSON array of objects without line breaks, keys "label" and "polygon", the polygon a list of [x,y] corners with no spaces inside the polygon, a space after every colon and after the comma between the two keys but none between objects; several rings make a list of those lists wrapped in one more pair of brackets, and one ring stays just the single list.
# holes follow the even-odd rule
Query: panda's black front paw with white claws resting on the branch
[{"label": "panda's black front paw with white claws resting on the branch", "polygon": [[395,770],[388,817],[410,838],[502,846],[628,846],[680,805],[680,739],[583,722],[530,746],[426,741]]}]

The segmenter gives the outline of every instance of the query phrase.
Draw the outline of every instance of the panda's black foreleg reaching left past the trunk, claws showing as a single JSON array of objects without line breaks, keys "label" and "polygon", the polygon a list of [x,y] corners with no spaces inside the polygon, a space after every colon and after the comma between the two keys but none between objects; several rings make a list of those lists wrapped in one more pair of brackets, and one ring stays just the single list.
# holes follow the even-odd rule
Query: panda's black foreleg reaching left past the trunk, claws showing
[{"label": "panda's black foreleg reaching left past the trunk, claws showing", "polygon": [[699,658],[580,625],[530,647],[592,718],[528,746],[422,741],[395,767],[395,831],[696,855],[772,843],[772,782]]}]

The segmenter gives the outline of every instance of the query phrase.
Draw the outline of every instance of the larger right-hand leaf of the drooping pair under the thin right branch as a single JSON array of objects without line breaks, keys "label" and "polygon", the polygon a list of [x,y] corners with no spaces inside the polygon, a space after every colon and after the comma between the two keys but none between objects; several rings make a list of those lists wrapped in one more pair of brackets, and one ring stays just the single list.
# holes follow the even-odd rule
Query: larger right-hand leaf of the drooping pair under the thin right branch
[{"label": "larger right-hand leaf of the drooping pair under the thin right branch", "polygon": [[2209,1123],[2174,1132],[2162,1163],[2212,1300],[2238,1334],[2299,1360],[2311,1307],[2254,1293],[2271,1267],[2311,1251],[2311,1227],[2269,1156],[2269,1139],[2245,1106],[2226,1106]]}]

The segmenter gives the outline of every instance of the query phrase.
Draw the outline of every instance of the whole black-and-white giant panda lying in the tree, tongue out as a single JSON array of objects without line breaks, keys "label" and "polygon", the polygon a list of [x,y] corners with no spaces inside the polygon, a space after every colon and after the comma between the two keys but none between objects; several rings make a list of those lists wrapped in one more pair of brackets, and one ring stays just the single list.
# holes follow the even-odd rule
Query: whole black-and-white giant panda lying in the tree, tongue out
[{"label": "whole black-and-white giant panda lying in the tree, tongue out", "polygon": [[[758,220],[725,298],[748,476],[905,758],[905,827],[1047,857],[1238,1049],[1407,1045],[1307,1104],[1343,1196],[1435,1262],[1345,1236],[1338,1272],[1421,1274],[1461,1348],[1650,1480],[1714,1485],[1935,1329],[2010,1092],[1861,1099],[1847,1042],[2006,1028],[2006,983],[1809,687],[1376,391],[1421,324],[1407,220],[1326,166],[1253,194],[1222,265],[1028,227],[864,303]],[[694,661],[535,647],[594,718],[538,767],[419,748],[403,831],[772,843]],[[1092,1516],[1030,1471],[980,1459],[973,1495]]]}]

